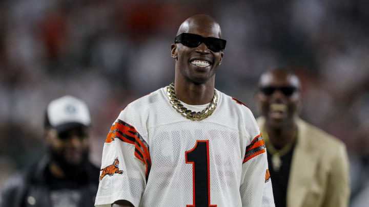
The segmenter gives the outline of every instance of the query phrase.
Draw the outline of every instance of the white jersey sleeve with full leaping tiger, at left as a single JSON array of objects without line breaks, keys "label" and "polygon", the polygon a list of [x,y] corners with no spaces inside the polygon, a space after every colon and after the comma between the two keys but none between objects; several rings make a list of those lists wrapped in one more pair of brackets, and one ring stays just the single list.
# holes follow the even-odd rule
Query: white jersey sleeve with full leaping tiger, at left
[{"label": "white jersey sleeve with full leaping tiger, at left", "polygon": [[146,188],[151,166],[149,146],[146,133],[135,128],[142,131],[145,127],[134,126],[139,122],[131,112],[129,108],[121,111],[107,135],[95,206],[110,207],[117,200],[128,200],[137,207]]}]

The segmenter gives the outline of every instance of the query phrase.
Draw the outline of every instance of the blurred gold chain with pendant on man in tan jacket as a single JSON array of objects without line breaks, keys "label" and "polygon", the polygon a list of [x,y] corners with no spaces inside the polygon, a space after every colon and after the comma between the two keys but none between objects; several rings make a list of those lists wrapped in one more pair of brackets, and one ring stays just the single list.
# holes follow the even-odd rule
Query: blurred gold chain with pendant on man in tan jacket
[{"label": "blurred gold chain with pendant on man in tan jacket", "polygon": [[261,133],[263,135],[263,140],[265,143],[265,147],[267,147],[268,152],[272,154],[272,166],[275,171],[279,171],[280,167],[282,166],[281,157],[286,155],[288,152],[291,151],[292,146],[295,144],[297,133],[295,133],[293,140],[285,145],[282,149],[277,150],[269,139],[269,135],[266,131]]}]

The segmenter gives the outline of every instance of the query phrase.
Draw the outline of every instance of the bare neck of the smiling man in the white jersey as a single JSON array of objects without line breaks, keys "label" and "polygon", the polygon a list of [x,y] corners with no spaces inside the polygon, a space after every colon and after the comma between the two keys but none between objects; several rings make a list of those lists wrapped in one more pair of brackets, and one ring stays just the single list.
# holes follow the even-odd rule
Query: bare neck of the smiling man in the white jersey
[{"label": "bare neck of the smiling man in the white jersey", "polygon": [[214,78],[197,84],[176,76],[174,90],[178,100],[190,105],[210,103],[214,96]]}]

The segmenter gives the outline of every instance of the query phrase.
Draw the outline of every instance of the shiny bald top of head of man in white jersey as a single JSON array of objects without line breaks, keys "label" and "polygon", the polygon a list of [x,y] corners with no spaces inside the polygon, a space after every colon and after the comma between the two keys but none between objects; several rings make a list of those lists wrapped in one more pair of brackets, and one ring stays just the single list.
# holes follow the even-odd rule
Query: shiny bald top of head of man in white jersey
[{"label": "shiny bald top of head of man in white jersey", "polygon": [[218,34],[217,38],[221,38],[221,30],[219,24],[209,15],[198,14],[191,16],[182,22],[179,26],[177,35],[181,33],[191,33],[191,30],[206,30]]}]

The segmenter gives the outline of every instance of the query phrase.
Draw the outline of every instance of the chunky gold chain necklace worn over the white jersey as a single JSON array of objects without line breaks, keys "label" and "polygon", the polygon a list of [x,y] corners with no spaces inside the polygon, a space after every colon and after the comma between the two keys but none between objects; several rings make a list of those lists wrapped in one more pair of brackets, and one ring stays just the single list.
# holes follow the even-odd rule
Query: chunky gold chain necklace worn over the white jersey
[{"label": "chunky gold chain necklace worn over the white jersey", "polygon": [[218,94],[214,89],[214,96],[210,104],[202,111],[196,112],[187,109],[185,106],[183,106],[183,104],[181,104],[181,102],[178,100],[175,94],[174,83],[171,83],[169,86],[167,86],[167,95],[169,102],[172,104],[172,107],[183,117],[186,117],[187,119],[192,121],[200,121],[208,118],[214,112],[218,102]]}]

